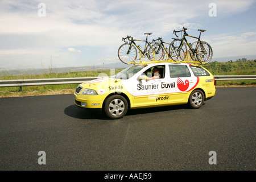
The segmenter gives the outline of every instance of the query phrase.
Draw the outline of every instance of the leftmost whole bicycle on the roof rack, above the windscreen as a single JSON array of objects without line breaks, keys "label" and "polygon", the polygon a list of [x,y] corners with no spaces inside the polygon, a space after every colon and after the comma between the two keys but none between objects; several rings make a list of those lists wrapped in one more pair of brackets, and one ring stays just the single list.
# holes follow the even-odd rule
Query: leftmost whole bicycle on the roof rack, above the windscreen
[{"label": "leftmost whole bicycle on the roof rack, above the windscreen", "polygon": [[[142,57],[147,57],[151,61],[158,61],[163,56],[163,48],[160,46],[159,43],[151,44],[147,41],[148,35],[151,35],[152,33],[145,33],[146,40],[137,40],[133,39],[131,36],[127,36],[126,38],[122,38],[124,44],[122,44],[118,49],[118,57],[119,59],[125,63],[135,63],[135,60],[137,59],[137,49],[139,50],[141,60]],[[127,42],[126,40],[129,40]],[[140,46],[138,46],[135,41],[139,42],[145,42],[144,50],[141,49]],[[158,50],[157,52],[155,50]]]}]

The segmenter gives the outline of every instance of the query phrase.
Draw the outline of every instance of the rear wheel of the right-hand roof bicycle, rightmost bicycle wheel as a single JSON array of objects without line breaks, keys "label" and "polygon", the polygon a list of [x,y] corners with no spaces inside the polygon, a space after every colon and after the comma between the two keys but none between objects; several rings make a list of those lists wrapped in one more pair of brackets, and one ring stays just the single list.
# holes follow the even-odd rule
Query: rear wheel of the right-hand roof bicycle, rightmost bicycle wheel
[{"label": "rear wheel of the right-hand roof bicycle, rightmost bicycle wheel", "polygon": [[213,52],[212,47],[210,47],[210,44],[204,41],[200,43],[196,51],[197,60],[199,60],[200,63],[209,63],[210,60],[212,60],[212,56]]}]

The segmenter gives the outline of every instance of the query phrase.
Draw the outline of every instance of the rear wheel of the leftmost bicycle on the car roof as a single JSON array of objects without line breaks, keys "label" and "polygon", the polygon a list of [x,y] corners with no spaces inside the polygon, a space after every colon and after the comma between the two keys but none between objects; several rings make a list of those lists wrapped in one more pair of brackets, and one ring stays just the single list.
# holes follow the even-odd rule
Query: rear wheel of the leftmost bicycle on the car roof
[{"label": "rear wheel of the leftmost bicycle on the car roof", "polygon": [[[146,53],[147,53],[147,58],[149,60],[158,61],[163,57],[164,50],[163,50],[163,47],[158,42],[152,42],[152,43],[147,45]],[[154,53],[155,53],[155,55],[154,55]]]}]

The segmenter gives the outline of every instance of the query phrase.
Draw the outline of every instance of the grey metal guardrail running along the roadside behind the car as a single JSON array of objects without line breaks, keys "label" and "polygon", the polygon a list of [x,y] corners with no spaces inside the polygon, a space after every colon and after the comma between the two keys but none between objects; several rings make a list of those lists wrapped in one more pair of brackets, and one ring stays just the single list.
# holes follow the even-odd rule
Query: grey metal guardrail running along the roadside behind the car
[{"label": "grey metal guardrail running along the roadside behind the car", "polygon": [[[0,88],[19,86],[20,91],[22,91],[22,86],[81,84],[82,82],[94,80],[97,78],[98,77],[0,80]],[[256,80],[256,75],[216,75],[214,78],[215,81]]]}]

